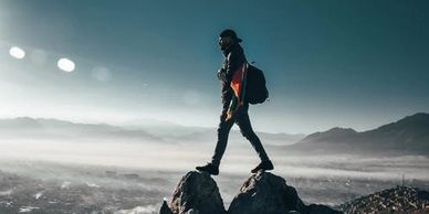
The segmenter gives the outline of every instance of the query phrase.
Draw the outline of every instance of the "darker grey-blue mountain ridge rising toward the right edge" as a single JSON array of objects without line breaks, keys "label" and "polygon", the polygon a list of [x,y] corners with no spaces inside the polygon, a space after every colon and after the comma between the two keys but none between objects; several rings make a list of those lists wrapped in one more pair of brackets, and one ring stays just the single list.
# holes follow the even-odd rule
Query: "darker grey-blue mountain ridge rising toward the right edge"
[{"label": "darker grey-blue mountain ridge rising toward the right edge", "polygon": [[322,152],[429,152],[429,114],[418,113],[373,130],[355,131],[333,128],[308,135],[289,147],[296,150]]}]

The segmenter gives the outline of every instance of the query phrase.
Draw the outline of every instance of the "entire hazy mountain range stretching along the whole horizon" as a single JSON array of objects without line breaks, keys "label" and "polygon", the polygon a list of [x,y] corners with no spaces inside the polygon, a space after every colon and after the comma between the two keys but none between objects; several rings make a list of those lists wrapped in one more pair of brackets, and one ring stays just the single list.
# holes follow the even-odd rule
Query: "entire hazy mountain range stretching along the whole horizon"
[{"label": "entire hazy mountain range stretching along the whole horizon", "polygon": [[[112,126],[76,124],[57,119],[18,117],[0,119],[1,139],[134,140],[175,143],[212,143],[216,128],[185,127],[175,124],[143,122]],[[335,127],[305,135],[258,132],[264,145],[275,150],[324,153],[429,153],[429,114],[418,113],[373,130],[356,131]],[[231,130],[231,146],[248,143],[238,130]]]}]

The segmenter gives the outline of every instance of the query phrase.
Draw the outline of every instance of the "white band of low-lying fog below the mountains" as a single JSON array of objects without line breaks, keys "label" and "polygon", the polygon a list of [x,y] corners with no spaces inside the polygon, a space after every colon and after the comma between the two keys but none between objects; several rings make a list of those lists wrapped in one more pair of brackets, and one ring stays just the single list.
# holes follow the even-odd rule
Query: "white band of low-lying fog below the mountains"
[{"label": "white band of low-lying fog below the mountains", "polygon": [[[189,171],[210,160],[216,142],[64,142],[64,141],[1,141],[3,160],[52,161],[101,167],[146,170]],[[314,156],[278,152],[266,147],[275,163],[275,173],[285,176],[344,176],[397,179],[429,179],[429,159],[421,156],[360,157],[350,154]],[[271,150],[270,150],[271,149]],[[253,148],[245,141],[232,141],[223,156],[221,171],[248,174],[258,164]]]}]

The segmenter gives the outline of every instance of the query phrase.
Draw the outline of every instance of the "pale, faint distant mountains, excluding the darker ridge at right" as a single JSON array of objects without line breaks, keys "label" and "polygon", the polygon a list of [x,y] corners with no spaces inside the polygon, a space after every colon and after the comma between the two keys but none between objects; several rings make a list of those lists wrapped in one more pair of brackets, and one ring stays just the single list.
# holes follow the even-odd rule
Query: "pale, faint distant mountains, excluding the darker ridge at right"
[{"label": "pale, faint distant mountains, excluding the darker ridge at right", "polygon": [[[260,138],[271,145],[292,145],[305,135],[258,132]],[[133,140],[172,143],[213,143],[216,128],[186,127],[171,122],[140,120],[128,126],[107,124],[80,124],[59,119],[17,117],[0,119],[0,139],[32,140]],[[231,130],[231,141],[247,143],[238,130]],[[237,145],[237,143],[234,143]]]}]

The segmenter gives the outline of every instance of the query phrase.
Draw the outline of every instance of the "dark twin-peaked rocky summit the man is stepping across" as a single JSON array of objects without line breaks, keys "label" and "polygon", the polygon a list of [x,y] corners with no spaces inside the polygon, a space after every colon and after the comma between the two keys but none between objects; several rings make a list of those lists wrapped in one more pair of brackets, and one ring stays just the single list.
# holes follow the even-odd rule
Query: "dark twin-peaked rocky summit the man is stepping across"
[{"label": "dark twin-peaked rocky summit the man is stepping across", "polygon": [[306,205],[296,190],[270,172],[251,175],[241,186],[228,210],[224,208],[214,180],[207,173],[188,172],[177,185],[160,214],[337,214],[325,205]]}]

